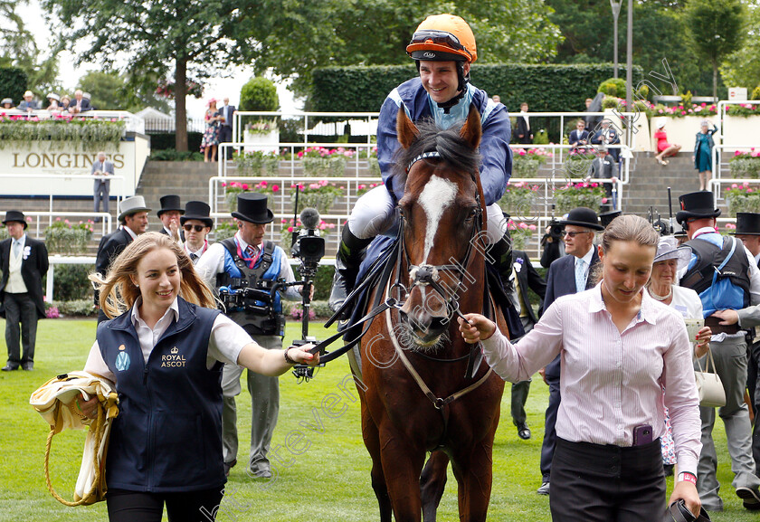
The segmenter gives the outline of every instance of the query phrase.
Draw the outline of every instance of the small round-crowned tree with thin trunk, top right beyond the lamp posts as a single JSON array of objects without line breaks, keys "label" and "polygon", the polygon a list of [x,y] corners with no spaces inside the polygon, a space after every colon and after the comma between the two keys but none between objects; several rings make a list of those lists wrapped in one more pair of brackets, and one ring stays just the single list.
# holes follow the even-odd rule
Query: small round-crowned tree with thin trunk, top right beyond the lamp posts
[{"label": "small round-crowned tree with thin trunk, top right beyond the lamp posts", "polygon": [[689,0],[684,12],[694,49],[712,65],[713,97],[717,97],[717,66],[742,41],[741,0]]}]

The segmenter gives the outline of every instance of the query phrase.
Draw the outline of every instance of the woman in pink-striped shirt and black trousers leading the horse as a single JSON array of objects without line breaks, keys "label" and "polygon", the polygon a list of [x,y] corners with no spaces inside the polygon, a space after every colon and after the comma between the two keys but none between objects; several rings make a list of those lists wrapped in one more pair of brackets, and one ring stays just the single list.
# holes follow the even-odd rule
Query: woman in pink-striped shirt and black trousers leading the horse
[{"label": "woman in pink-striped shirt and black trousers leading the horse", "polygon": [[561,356],[549,497],[554,520],[657,518],[666,493],[663,406],[670,407],[681,470],[670,502],[683,499],[699,514],[699,399],[689,337],[678,314],[643,288],[658,241],[639,216],[613,220],[599,246],[599,284],[557,299],[517,345],[488,318],[459,319],[462,337],[481,342],[487,362],[506,380],[525,380]]}]

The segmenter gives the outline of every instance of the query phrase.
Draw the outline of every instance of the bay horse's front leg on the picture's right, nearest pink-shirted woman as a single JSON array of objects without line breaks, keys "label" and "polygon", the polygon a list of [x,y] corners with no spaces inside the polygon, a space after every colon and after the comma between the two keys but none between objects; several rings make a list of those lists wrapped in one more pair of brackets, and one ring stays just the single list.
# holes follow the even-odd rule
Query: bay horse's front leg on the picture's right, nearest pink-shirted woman
[{"label": "bay horse's front leg on the picture's right, nearest pink-shirted woman", "polygon": [[493,433],[469,450],[467,454],[454,454],[451,459],[451,470],[459,484],[460,520],[484,522],[493,480]]}]

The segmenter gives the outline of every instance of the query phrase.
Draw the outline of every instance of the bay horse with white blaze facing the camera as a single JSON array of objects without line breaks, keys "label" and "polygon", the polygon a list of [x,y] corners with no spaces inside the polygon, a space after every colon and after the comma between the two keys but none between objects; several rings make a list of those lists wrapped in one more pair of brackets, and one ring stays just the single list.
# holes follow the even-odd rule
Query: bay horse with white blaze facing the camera
[{"label": "bay horse with white blaze facing the camera", "polygon": [[[422,512],[426,522],[433,521],[451,460],[460,519],[479,522],[489,507],[504,389],[480,358],[472,375],[465,375],[470,356],[480,351],[461,338],[455,317],[460,309],[483,313],[489,299],[480,114],[470,107],[461,130],[424,122],[417,128],[402,107],[397,131],[402,148],[396,167],[405,177],[401,245],[398,259],[389,261],[396,263],[390,280],[375,292],[383,292],[382,300],[408,290],[402,308],[372,320],[356,375],[372,487],[382,522],[390,522],[392,513],[397,522],[419,521]],[[498,307],[490,308],[507,333]]]}]

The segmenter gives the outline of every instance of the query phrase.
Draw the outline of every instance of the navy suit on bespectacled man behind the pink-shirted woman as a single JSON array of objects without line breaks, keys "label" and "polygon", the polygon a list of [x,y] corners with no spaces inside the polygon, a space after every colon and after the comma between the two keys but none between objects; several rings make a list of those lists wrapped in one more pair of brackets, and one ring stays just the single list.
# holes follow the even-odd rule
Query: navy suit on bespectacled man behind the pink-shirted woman
[{"label": "navy suit on bespectacled man behind the pink-shirted woman", "polygon": [[[592,245],[594,254],[588,269],[585,289],[594,287],[591,274],[594,272],[596,263],[599,262],[599,254],[596,246]],[[554,261],[546,272],[546,297],[542,313],[551,306],[557,298],[575,294],[575,255],[566,255]],[[541,474],[544,482],[549,482],[552,470],[552,459],[556,446],[556,413],[559,410],[561,396],[559,394],[560,356],[546,365],[546,384],[549,385],[549,405],[546,408],[546,424],[544,427],[544,443],[541,446]]]}]

